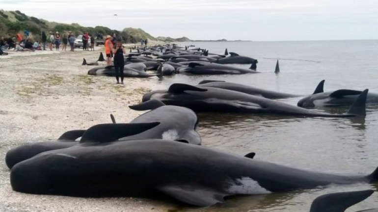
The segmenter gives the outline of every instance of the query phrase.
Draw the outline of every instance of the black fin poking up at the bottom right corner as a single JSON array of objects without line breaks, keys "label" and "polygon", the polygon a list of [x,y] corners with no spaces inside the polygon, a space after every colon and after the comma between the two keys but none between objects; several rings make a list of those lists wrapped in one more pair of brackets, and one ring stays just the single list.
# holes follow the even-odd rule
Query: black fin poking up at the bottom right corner
[{"label": "black fin poking up at the bottom right corner", "polygon": [[311,204],[310,212],[344,212],[347,208],[368,198],[374,190],[360,190],[324,194]]}]

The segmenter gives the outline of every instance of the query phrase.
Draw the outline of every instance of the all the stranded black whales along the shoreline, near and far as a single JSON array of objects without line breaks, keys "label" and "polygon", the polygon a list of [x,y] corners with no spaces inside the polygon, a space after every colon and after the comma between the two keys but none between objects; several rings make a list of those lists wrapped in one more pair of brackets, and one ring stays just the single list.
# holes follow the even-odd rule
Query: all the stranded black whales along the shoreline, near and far
[{"label": "all the stranded black whales along the shoreline, near and far", "polygon": [[[141,53],[146,55],[152,51],[144,50]],[[228,60],[251,62],[236,54],[211,57],[206,50],[199,50],[172,47],[169,53],[159,54],[155,49],[151,54],[160,55],[157,61],[141,61],[146,56],[129,54],[125,58],[129,62],[125,65],[125,75],[127,70],[137,77],[169,75],[169,72],[221,74],[225,72],[217,70],[232,72],[221,65]],[[149,69],[156,69],[157,74],[144,72]],[[233,73],[237,73],[236,69]],[[276,72],[279,72],[278,61]],[[112,76],[114,68],[96,67],[88,71],[88,74],[99,73]],[[227,196],[377,182],[378,168],[366,175],[325,174],[260,161],[254,159],[254,152],[239,156],[201,145],[195,112],[364,117],[365,104],[378,101],[376,94],[368,90],[324,92],[323,86],[324,80],[314,94],[299,100],[297,107],[274,99],[303,95],[216,80],[204,80],[198,85],[175,83],[167,90],[144,94],[142,103],[130,106],[134,110],[151,110],[130,123],[116,123],[111,116],[113,123],[68,131],[57,141],[32,142],[11,149],[5,158],[11,169],[11,186],[19,192],[69,196],[156,198],[164,194],[204,207],[222,203]],[[332,105],[351,105],[351,108],[346,114],[302,108]],[[310,212],[343,212],[372,193],[366,190],[327,194],[314,200]]]}]

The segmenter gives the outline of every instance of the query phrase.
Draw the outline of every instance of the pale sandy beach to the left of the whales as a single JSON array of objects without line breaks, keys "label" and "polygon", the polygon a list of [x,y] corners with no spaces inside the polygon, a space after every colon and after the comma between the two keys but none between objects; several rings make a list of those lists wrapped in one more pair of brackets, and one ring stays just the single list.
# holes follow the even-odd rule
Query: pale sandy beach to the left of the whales
[{"label": "pale sandy beach to the left of the whales", "polygon": [[173,203],[140,198],[77,198],[15,192],[6,152],[27,142],[56,140],[63,132],[98,123],[129,122],[143,112],[128,108],[155,89],[156,77],[115,78],[87,75],[103,47],[95,51],[10,52],[0,56],[0,212],[167,211]]}]

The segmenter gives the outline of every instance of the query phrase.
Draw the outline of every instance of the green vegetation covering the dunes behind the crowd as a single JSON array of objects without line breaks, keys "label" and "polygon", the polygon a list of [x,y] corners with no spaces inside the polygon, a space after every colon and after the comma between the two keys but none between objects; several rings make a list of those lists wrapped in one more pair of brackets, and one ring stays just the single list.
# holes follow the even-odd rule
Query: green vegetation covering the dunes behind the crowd
[{"label": "green vegetation covering the dunes behind the crowd", "polygon": [[148,39],[150,41],[190,41],[188,38],[183,37],[179,39],[173,38],[164,38],[157,39],[142,29],[138,28],[125,28],[122,31],[110,29],[106,26],[95,26],[87,27],[81,26],[80,24],[61,24],[56,22],[48,22],[46,20],[38,19],[35,17],[29,17],[19,10],[16,11],[4,11],[0,10],[0,36],[2,37],[16,37],[17,33],[21,35],[24,34],[24,29],[30,32],[29,37],[35,40],[40,40],[42,31],[45,31],[48,35],[48,32],[68,32],[72,31],[76,36],[88,32],[89,34],[95,35],[97,32],[106,35],[113,35],[114,33],[117,36],[121,36],[123,42],[125,43],[138,43],[141,39]]}]

